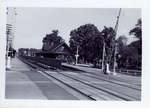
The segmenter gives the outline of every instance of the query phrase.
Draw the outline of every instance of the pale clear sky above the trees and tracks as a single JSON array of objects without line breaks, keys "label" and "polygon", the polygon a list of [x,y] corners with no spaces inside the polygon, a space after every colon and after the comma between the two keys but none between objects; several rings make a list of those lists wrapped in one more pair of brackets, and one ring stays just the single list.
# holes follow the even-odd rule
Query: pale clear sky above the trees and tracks
[{"label": "pale clear sky above the trees and tracks", "polygon": [[[15,25],[14,48],[42,48],[42,39],[52,30],[58,29],[59,35],[69,44],[70,31],[84,24],[94,24],[101,31],[104,26],[114,27],[119,8],[16,8],[13,17],[10,8],[7,23]],[[141,9],[122,8],[117,37],[125,35],[129,42],[135,40],[129,31],[141,18]]]}]

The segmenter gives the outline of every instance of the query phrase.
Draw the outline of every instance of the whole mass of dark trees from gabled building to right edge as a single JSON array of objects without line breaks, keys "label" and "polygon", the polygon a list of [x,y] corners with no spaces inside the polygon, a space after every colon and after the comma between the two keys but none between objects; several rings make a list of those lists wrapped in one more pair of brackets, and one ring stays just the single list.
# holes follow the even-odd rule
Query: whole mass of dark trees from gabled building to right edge
[{"label": "whole mass of dark trees from gabled building to right edge", "polygon": [[[122,35],[115,40],[115,31],[112,27],[105,27],[102,31],[93,24],[85,24],[70,32],[70,47],[76,54],[79,47],[79,59],[84,63],[94,63],[95,60],[103,58],[103,46],[105,43],[104,66],[109,64],[113,68],[114,56],[119,68],[141,67],[142,54],[142,22],[138,20],[130,35],[135,35],[138,41],[127,45],[127,38]],[[117,54],[114,55],[117,43]],[[104,67],[106,68],[106,67]]]}]

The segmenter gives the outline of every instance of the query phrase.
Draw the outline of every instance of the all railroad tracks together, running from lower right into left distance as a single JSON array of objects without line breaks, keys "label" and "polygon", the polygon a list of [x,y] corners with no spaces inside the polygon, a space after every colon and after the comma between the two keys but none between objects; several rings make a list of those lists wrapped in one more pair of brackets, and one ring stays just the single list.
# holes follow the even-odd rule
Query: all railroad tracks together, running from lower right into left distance
[{"label": "all railroad tracks together, running from lower right into left distance", "polygon": [[109,79],[98,78],[98,76],[89,73],[61,71],[52,72],[51,70],[47,70],[50,68],[44,65],[39,67],[39,63],[35,64],[34,61],[23,61],[33,68],[40,70],[39,72],[42,74],[45,74],[48,77],[51,77],[76,92],[86,96],[89,100],[135,101],[140,100],[141,97],[141,90],[136,86],[110,81]]}]

